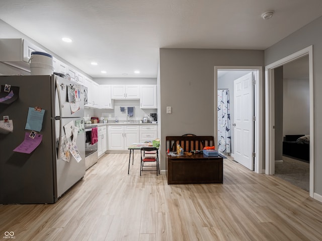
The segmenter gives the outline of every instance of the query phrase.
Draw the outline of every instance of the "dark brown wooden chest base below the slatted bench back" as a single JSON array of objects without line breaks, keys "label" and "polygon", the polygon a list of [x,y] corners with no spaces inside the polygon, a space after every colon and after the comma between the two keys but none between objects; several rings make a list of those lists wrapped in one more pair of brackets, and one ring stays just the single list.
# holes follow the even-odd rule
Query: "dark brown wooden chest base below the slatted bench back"
[{"label": "dark brown wooden chest base below the slatted bench back", "polygon": [[223,159],[220,156],[167,154],[166,165],[168,184],[222,183]]}]

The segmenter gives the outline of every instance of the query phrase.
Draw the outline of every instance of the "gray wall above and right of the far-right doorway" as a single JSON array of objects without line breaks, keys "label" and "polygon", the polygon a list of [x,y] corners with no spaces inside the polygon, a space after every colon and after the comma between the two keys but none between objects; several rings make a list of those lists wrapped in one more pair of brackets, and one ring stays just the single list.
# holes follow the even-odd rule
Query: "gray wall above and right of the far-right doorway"
[{"label": "gray wall above and right of the far-right doorway", "polygon": [[301,49],[313,45],[313,85],[314,85],[314,192],[322,195],[322,17],[294,32],[277,44],[265,50],[265,65],[269,65]]}]

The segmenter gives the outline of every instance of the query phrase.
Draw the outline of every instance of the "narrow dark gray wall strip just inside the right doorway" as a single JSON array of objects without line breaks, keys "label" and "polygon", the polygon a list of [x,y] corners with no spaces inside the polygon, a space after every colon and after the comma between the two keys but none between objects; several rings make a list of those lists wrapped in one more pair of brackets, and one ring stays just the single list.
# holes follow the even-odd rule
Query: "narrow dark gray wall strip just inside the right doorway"
[{"label": "narrow dark gray wall strip just inside the right doorway", "polygon": [[283,66],[274,71],[275,161],[283,156]]}]

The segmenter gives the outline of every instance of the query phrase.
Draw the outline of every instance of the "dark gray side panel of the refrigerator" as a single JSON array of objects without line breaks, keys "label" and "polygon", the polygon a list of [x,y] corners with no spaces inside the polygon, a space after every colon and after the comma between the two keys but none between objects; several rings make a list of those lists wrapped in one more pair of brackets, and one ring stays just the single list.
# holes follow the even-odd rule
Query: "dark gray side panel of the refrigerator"
[{"label": "dark gray side panel of the refrigerator", "polygon": [[[9,115],[14,131],[0,134],[0,204],[53,203],[54,142],[51,118],[51,76],[0,76],[0,84],[19,86],[19,99],[10,105],[0,104],[0,118]],[[25,137],[28,108],[45,109],[42,142],[31,153],[13,150]]]}]

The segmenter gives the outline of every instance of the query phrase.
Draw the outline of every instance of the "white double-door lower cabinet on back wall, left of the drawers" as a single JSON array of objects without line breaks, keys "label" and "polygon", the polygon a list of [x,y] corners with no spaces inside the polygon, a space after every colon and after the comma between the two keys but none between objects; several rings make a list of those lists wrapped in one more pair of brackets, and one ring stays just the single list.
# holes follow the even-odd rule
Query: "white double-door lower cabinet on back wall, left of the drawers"
[{"label": "white double-door lower cabinet on back wall, left of the drawers", "polygon": [[108,150],[123,151],[139,142],[139,126],[108,126]]}]

